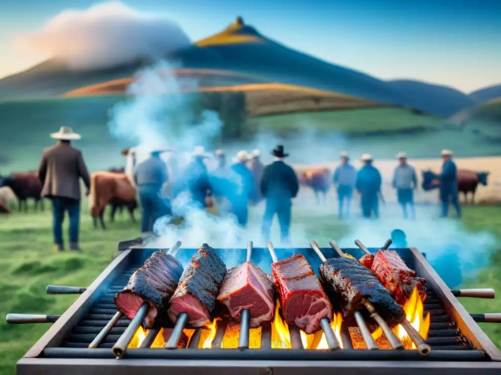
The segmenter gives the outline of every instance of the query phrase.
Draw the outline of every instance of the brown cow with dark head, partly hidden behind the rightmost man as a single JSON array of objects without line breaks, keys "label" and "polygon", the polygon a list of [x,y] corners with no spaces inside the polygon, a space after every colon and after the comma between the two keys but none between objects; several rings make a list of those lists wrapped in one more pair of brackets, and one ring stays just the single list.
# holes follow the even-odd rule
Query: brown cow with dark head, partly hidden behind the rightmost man
[{"label": "brown cow with dark head, partly hidden behind the rightmost man", "polygon": [[[440,186],[439,175],[431,170],[422,170],[423,182],[422,188],[425,191],[432,190]],[[457,191],[464,194],[464,203],[468,203],[468,192],[471,192],[470,204],[475,203],[476,187],[487,185],[487,176],[489,172],[475,172],[470,169],[457,169]]]}]

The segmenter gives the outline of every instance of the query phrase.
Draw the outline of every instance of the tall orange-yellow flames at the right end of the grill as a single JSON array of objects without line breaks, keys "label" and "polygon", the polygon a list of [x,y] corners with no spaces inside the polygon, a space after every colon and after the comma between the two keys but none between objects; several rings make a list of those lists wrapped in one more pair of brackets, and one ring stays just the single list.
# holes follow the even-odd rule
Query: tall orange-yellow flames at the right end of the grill
[{"label": "tall orange-yellow flames at the right end of the grill", "polygon": [[[430,313],[426,313],[426,316],[423,317],[423,299],[419,295],[417,287],[414,287],[410,298],[402,307],[405,311],[407,320],[409,320],[412,326],[416,328],[421,337],[426,339],[428,337],[428,330],[430,328]],[[393,331],[400,339],[400,341],[402,341],[402,343],[405,345],[406,349],[416,349],[416,345],[414,345],[414,343],[411,341],[404,327],[398,324],[395,328],[393,328]],[[382,334],[383,331],[381,330],[381,328],[378,328],[372,333],[372,337],[377,340],[379,337],[381,337]]]}]

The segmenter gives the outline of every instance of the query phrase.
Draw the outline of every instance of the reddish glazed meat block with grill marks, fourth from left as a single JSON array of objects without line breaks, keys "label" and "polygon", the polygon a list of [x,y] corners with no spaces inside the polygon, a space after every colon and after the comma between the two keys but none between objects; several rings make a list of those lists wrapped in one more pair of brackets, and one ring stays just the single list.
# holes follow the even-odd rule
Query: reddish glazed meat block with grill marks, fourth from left
[{"label": "reddish glazed meat block with grill marks, fourth from left", "polygon": [[320,329],[322,318],[332,320],[331,302],[302,254],[273,263],[272,275],[287,323],[314,333]]}]

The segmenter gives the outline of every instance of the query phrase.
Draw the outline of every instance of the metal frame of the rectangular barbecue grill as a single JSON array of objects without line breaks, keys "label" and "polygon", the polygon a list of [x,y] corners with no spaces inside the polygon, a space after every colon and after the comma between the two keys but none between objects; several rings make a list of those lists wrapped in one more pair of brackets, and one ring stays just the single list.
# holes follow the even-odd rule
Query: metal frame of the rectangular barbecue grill
[{"label": "metal frame of the rectangular barbecue grill", "polygon": [[[494,373],[493,371],[501,370],[501,351],[499,351],[496,346],[490,341],[490,339],[481,330],[478,324],[471,318],[469,313],[457,300],[457,298],[452,295],[450,289],[446,286],[443,280],[438,276],[435,270],[426,260],[425,256],[421,254],[416,248],[405,249],[412,257],[412,259],[404,259],[406,262],[412,262],[413,269],[416,270],[419,276],[426,278],[428,285],[433,289],[435,295],[442,303],[444,310],[447,314],[453,318],[457,323],[457,328],[461,333],[475,346],[476,349],[482,350],[486,354],[487,360],[481,360],[479,358],[476,361],[473,358],[472,353],[477,350],[457,350],[455,351],[456,358],[461,358],[460,361],[451,361],[448,358],[453,358],[454,351],[452,350],[439,350],[434,351],[430,356],[415,358],[413,354],[403,354],[400,357],[394,355],[393,357],[388,356],[389,351],[393,350],[378,350],[379,353],[374,353],[376,356],[371,357],[361,355],[361,350],[353,350],[359,352],[356,357],[352,355],[346,355],[346,358],[339,357],[339,354],[332,355],[332,360],[325,360],[322,355],[310,355],[305,353],[306,357],[302,355],[295,356],[291,352],[291,359],[288,360],[285,357],[277,358],[270,357],[266,355],[252,354],[238,355],[240,358],[226,360],[221,357],[221,350],[217,349],[193,349],[202,350],[205,353],[207,351],[217,350],[218,354],[203,354],[198,359],[190,358],[189,364],[186,362],[187,358],[177,359],[176,356],[171,356],[171,358],[161,358],[160,353],[154,355],[154,359],[145,359],[141,352],[144,350],[167,350],[167,349],[132,349],[130,355],[124,355],[124,359],[115,360],[111,355],[111,349],[80,349],[81,350],[92,350],[93,358],[78,358],[71,355],[66,355],[65,358],[57,357],[44,357],[44,349],[48,348],[48,355],[50,352],[54,355],[54,351],[57,351],[58,347],[63,346],[65,337],[70,334],[72,329],[78,325],[82,318],[90,311],[93,305],[99,300],[103,293],[107,292],[107,289],[112,285],[117,277],[123,275],[123,273],[131,268],[132,265],[138,264],[143,260],[145,254],[148,254],[156,250],[155,248],[142,248],[140,246],[131,246],[128,249],[122,251],[109,265],[106,269],[94,280],[94,282],[87,288],[84,293],[63,313],[63,315],[49,328],[49,330],[28,350],[28,352],[18,361],[18,374],[49,374],[59,371],[61,373],[72,373],[72,375],[88,374],[89,371],[92,373],[107,373],[115,374],[120,373],[123,375],[126,366],[127,374],[129,373],[144,373],[145,367],[151,372],[151,375],[156,373],[164,373],[166,370],[171,371],[172,374],[182,374],[185,375],[186,372],[195,373],[199,371],[200,367],[204,368],[207,375],[212,373],[222,374],[230,373],[233,374],[235,369],[241,373],[257,374],[260,375],[271,375],[275,373],[284,373],[287,371],[288,375],[295,375],[299,373],[304,373],[305,371],[321,373],[333,370],[343,370],[346,374],[356,374],[363,368],[369,370],[371,368],[371,373],[399,373],[398,370],[405,367],[406,373],[418,373],[422,372],[423,369],[429,371],[429,373],[454,373],[462,374],[468,373],[473,374],[475,372],[481,371],[481,373]],[[180,249],[179,252],[182,252]],[[194,250],[194,249],[186,249]],[[261,250],[261,249],[255,249]],[[262,249],[266,250],[266,249]],[[277,249],[280,250],[280,249]],[[327,250],[327,249],[322,249]],[[371,251],[376,251],[377,249],[372,248]],[[351,248],[344,249],[345,252],[350,253],[354,256],[360,256],[358,254],[359,249]],[[174,351],[181,351],[187,349],[174,349]],[[224,349],[224,352],[232,349]],[[264,350],[249,349],[251,351],[261,351]],[[249,351],[246,350],[246,351]],[[274,349],[280,350],[280,349]],[[234,351],[238,351],[234,349]],[[280,350],[283,351],[283,350]],[[342,350],[347,352],[348,350]],[[351,350],[350,350],[351,351]],[[365,350],[364,350],[365,351]],[[413,350],[414,351],[414,350]],[[244,352],[239,351],[244,354]],[[311,350],[307,350],[311,352]],[[384,353],[386,352],[386,353]],[[406,352],[408,352],[406,350]],[[99,354],[102,353],[102,354]],[[106,354],[106,353],[109,353]],[[233,355],[233,354],[231,354]],[[377,357],[379,355],[379,357]],[[51,355],[52,356],[52,355]],[[101,356],[101,357],[99,357]],[[210,357],[213,356],[213,359]],[[288,355],[287,355],[288,356]],[[287,357],[286,356],[286,357]],[[308,356],[312,359],[309,359]],[[351,360],[353,357],[353,360]],[[471,357],[468,359],[468,356]],[[316,358],[314,358],[316,357]],[[284,359],[285,358],[285,359]],[[305,359],[306,358],[306,359]],[[372,360],[374,358],[379,358],[380,360]],[[392,358],[394,358],[392,360]],[[300,359],[300,360],[296,360]],[[330,359],[330,358],[329,358]],[[235,360],[238,363],[235,365]],[[452,372],[453,371],[453,372]],[[465,372],[466,371],[466,372]],[[497,373],[497,372],[496,372]],[[149,374],[150,375],[150,374]]]}]

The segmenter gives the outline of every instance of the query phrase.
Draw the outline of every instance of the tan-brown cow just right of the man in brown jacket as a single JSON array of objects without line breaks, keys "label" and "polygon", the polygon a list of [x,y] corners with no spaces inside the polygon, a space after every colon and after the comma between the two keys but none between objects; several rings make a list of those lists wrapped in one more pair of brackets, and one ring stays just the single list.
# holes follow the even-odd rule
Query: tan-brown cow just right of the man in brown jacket
[{"label": "tan-brown cow just right of the man in brown jacket", "polygon": [[96,228],[99,218],[101,228],[106,229],[103,214],[108,204],[112,206],[112,220],[116,207],[125,205],[129,210],[132,221],[136,221],[134,217],[134,209],[137,208],[136,188],[125,174],[109,171],[92,173],[89,203],[94,227]]}]

